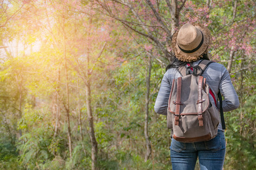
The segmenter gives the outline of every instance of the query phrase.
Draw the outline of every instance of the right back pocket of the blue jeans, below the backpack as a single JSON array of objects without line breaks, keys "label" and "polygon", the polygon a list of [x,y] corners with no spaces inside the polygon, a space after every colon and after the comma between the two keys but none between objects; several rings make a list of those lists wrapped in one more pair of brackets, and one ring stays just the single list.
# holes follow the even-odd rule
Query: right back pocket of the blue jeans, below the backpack
[{"label": "right back pocket of the blue jeans, below the backpack", "polygon": [[[218,151],[222,148],[222,138],[220,131],[218,131],[218,134],[215,138],[210,139],[210,141],[205,141],[205,149],[210,151]],[[224,139],[225,141],[225,139]]]}]

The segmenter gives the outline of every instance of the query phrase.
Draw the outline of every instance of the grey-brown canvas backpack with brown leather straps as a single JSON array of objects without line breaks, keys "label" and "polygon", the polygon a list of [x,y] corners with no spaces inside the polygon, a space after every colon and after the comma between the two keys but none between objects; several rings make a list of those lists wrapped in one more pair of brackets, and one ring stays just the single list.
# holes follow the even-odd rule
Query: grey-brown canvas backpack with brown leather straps
[{"label": "grey-brown canvas backpack with brown leather straps", "polygon": [[[187,64],[180,67],[179,73],[182,76],[172,81],[167,109],[167,128],[172,129],[172,138],[176,141],[209,141],[217,135],[219,113],[210,103],[210,88],[206,78],[201,76],[210,63],[212,61],[204,59],[197,66]],[[212,96],[216,101],[213,93]],[[218,96],[220,99],[220,92]],[[222,123],[222,127],[225,128],[225,122]]]}]

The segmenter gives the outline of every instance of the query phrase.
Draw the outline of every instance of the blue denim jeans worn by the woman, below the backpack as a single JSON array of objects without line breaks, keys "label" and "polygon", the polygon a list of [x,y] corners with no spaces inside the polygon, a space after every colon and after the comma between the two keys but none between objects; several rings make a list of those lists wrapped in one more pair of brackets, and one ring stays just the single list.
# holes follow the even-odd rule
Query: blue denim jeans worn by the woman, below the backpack
[{"label": "blue denim jeans worn by the woman, below the backpack", "polygon": [[174,170],[195,169],[197,156],[201,170],[221,170],[226,151],[224,131],[218,130],[217,136],[206,142],[183,143],[172,138],[170,149]]}]

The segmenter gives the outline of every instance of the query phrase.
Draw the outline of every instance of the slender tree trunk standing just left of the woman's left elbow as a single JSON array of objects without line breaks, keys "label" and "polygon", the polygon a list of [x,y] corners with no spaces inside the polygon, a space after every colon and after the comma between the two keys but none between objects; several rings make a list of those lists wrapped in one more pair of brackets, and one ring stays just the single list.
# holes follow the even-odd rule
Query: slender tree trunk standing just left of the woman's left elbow
[{"label": "slender tree trunk standing just left of the woman's left elbow", "polygon": [[148,158],[151,154],[151,143],[150,139],[148,137],[148,104],[150,101],[150,76],[151,76],[151,56],[148,57],[148,70],[147,70],[147,78],[146,78],[146,86],[147,86],[147,92],[146,92],[146,105],[145,105],[145,122],[144,122],[144,135],[146,139],[146,148],[147,152],[144,157],[144,162],[147,162]]}]

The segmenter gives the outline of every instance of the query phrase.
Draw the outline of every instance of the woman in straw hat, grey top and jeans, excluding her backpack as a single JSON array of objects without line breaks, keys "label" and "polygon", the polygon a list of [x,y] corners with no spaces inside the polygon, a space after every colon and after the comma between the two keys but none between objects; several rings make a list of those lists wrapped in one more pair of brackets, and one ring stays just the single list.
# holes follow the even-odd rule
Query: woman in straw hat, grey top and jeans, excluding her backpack
[{"label": "woman in straw hat, grey top and jeans, excluding her backpack", "polygon": [[[199,25],[185,24],[180,29],[182,29],[180,35],[177,32],[172,40],[172,48],[175,51],[176,57],[175,61],[167,67],[158,97],[156,98],[155,112],[159,114],[167,114],[172,80],[181,76],[178,71],[179,67],[185,67],[187,63],[196,66],[200,62],[200,59],[208,59],[207,49],[210,36],[208,35],[209,32],[205,31],[207,28],[202,28]],[[193,34],[195,30],[197,32]],[[187,34],[189,34],[189,36]],[[198,35],[201,36],[199,37]],[[188,37],[192,37],[193,39],[187,40]],[[187,43],[187,41],[189,41],[189,43]],[[220,91],[224,96],[224,100],[222,101],[224,112],[232,111],[239,107],[238,96],[230,80],[229,73],[223,65],[215,62],[210,63],[202,76],[206,78],[206,83],[209,85],[214,95],[214,97],[209,95],[210,102],[213,105],[215,105],[217,94]],[[216,107],[219,107],[217,103],[216,105]],[[225,157],[224,131],[220,124],[218,126],[218,135],[210,141],[204,142],[183,143],[172,139],[170,148],[173,169],[195,168],[197,156],[199,157],[201,169],[222,169]]]}]

